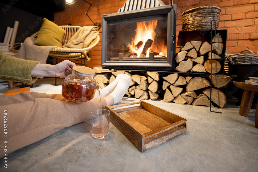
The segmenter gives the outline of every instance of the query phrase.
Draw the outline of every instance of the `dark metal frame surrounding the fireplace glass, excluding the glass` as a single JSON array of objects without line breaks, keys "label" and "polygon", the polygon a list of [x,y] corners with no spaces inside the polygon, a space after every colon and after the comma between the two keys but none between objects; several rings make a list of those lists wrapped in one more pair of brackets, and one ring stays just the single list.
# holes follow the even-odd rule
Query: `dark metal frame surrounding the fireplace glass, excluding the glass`
[{"label": "dark metal frame surrounding the fireplace glass, excluding the glass", "polygon": [[[133,19],[133,18],[150,18],[152,16],[167,15],[167,61],[107,61],[107,26],[110,22],[117,20]],[[102,68],[118,69],[118,70],[148,70],[161,71],[164,68],[168,70],[175,69],[175,51],[176,51],[176,4],[158,6],[148,9],[139,9],[122,13],[104,14],[102,15],[102,51],[101,64]]]}]

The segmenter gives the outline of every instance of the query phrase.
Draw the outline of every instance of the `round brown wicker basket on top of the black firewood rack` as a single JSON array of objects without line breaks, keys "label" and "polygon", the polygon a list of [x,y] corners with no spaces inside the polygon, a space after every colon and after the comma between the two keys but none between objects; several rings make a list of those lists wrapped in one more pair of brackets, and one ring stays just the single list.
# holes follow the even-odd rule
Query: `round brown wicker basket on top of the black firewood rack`
[{"label": "round brown wicker basket on top of the black firewood rack", "polygon": [[[211,30],[211,21],[215,19],[219,27],[221,9],[216,6],[201,6],[182,13],[183,31]],[[215,30],[215,25],[212,26]]]}]

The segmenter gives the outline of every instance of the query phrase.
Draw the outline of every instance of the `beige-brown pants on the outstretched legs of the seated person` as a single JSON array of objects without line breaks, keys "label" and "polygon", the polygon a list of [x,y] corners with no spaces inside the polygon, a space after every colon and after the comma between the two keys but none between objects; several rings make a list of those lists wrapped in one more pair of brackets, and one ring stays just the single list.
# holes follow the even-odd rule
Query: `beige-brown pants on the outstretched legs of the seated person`
[{"label": "beige-brown pants on the outstretched legs of the seated person", "polygon": [[[101,99],[101,103],[104,108],[105,99]],[[64,127],[89,120],[91,111],[96,109],[99,109],[99,100],[95,98],[88,102],[74,103],[66,100],[61,94],[32,92],[1,95],[0,158]],[[4,135],[4,127],[7,129],[7,137]],[[8,152],[4,152],[5,141],[8,142]]]}]

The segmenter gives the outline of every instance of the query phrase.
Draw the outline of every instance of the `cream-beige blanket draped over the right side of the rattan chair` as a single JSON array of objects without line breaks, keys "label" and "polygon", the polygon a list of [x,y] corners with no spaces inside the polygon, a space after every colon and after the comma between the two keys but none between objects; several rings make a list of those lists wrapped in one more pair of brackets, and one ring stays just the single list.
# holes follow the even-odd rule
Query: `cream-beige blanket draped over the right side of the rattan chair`
[{"label": "cream-beige blanket draped over the right side of the rattan chair", "polygon": [[98,26],[83,26],[63,45],[64,48],[87,48],[99,35]]}]

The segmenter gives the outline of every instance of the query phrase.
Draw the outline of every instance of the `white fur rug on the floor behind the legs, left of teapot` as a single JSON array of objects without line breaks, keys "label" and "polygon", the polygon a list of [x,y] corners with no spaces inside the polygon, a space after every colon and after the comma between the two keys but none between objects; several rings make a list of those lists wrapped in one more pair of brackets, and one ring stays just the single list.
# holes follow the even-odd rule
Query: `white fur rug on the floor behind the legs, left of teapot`
[{"label": "white fur rug on the floor behind the legs, left of teapot", "polygon": [[35,88],[30,88],[30,92],[46,93],[46,94],[61,94],[62,85],[51,85],[51,84],[41,84]]}]

